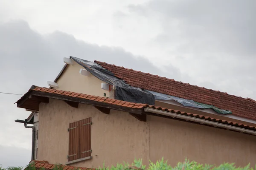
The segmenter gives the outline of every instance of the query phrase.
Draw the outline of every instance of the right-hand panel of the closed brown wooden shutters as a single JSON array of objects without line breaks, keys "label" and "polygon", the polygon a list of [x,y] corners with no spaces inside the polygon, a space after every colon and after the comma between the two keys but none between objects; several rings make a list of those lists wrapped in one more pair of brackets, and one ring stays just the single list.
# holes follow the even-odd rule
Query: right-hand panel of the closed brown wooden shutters
[{"label": "right-hand panel of the closed brown wooden shutters", "polygon": [[81,158],[91,156],[92,118],[81,120]]}]

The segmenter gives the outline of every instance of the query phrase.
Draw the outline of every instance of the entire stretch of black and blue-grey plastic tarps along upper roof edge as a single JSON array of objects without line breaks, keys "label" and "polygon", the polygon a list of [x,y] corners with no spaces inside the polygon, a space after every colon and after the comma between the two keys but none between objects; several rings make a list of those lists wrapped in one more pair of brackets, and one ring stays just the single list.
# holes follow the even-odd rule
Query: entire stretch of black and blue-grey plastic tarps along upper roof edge
[{"label": "entire stretch of black and blue-grey plastic tarps along upper roof edge", "polygon": [[154,91],[147,91],[141,88],[132,87],[125,83],[124,80],[115,77],[111,71],[108,71],[107,69],[103,68],[101,65],[95,62],[90,62],[76,57],[70,58],[79,63],[79,65],[83,66],[87,71],[93,74],[93,76],[110,85],[115,85],[115,99],[128,102],[145,103],[148,105],[154,105],[155,100],[175,100],[176,102],[179,102],[186,107],[194,107],[200,109],[211,108],[220,114],[232,114],[231,111],[219,109],[212,105],[206,105],[203,103],[195,102],[193,100],[182,99],[167,94],[161,94]]}]

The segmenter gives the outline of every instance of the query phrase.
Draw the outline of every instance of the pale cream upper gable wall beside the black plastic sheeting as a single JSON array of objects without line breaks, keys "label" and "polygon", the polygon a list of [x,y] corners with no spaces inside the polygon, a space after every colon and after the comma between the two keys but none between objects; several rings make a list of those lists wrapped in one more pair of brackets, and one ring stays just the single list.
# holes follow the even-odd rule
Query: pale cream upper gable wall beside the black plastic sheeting
[{"label": "pale cream upper gable wall beside the black plastic sheeting", "polygon": [[76,62],[74,62],[74,65],[68,65],[57,81],[58,89],[95,96],[103,96],[106,93],[109,96],[109,92],[101,88],[103,81],[94,77],[92,74],[89,77],[81,75],[79,73],[81,68],[83,67]]}]

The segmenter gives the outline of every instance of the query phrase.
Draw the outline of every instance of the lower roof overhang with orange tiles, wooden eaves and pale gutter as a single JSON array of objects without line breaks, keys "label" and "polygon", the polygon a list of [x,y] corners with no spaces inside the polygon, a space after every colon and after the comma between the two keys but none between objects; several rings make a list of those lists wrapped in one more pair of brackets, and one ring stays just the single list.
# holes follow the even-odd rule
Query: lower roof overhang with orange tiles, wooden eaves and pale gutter
[{"label": "lower roof overhang with orange tiles, wooden eaves and pale gutter", "polygon": [[193,113],[174,111],[173,109],[161,108],[142,103],[125,102],[106,97],[41,88],[37,86],[32,86],[30,90],[17,101],[17,107],[39,111],[39,104],[41,102],[48,103],[49,99],[62,100],[74,108],[78,108],[79,103],[93,105],[99,111],[106,114],[110,113],[110,109],[124,111],[144,122],[146,122],[146,114],[148,114],[256,135],[256,127],[241,123],[215,119],[207,116],[199,116],[198,114]]}]

